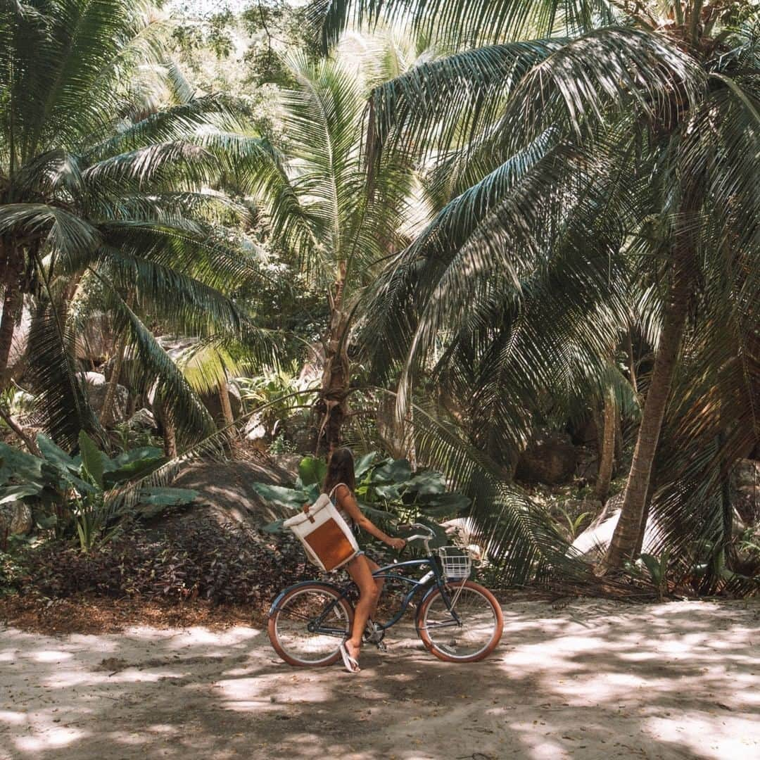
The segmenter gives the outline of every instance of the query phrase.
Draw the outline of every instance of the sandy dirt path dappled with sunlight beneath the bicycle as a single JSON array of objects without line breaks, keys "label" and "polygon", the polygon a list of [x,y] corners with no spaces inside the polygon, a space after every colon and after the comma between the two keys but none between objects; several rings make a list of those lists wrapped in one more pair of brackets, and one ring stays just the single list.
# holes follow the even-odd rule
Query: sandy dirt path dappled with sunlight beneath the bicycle
[{"label": "sandy dirt path dappled with sunlight beneath the bicycle", "polygon": [[760,600],[504,611],[489,660],[439,662],[406,625],[358,676],[243,625],[0,630],[0,758],[760,757]]}]

